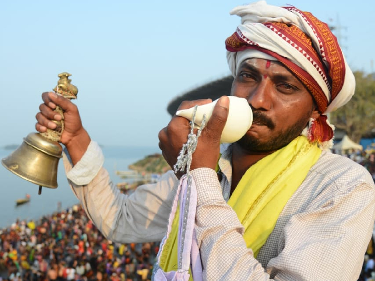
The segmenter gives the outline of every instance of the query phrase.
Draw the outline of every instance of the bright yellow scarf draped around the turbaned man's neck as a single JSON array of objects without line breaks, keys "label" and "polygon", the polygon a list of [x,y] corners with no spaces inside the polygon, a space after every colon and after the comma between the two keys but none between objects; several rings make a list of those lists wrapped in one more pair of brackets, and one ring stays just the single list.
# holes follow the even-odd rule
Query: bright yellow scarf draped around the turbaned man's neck
[{"label": "bright yellow scarf draped around the turbaned man's neck", "polygon": [[[315,143],[299,136],[284,148],[259,160],[243,175],[228,205],[245,227],[243,238],[255,257],[273,231],[285,204],[320,154],[321,149]],[[160,267],[165,272],[177,268],[177,233],[178,212],[160,257]]]}]

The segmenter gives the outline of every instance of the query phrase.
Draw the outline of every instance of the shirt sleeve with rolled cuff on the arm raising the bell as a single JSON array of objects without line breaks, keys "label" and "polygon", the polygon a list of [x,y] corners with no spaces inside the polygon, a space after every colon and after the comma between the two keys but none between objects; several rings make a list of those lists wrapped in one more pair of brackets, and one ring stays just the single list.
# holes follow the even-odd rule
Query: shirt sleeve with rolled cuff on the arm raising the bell
[{"label": "shirt sleeve with rolled cuff on the arm raising the bell", "polygon": [[157,183],[137,187],[129,196],[113,184],[102,167],[104,156],[92,142],[73,167],[67,151],[64,166],[75,196],[103,235],[114,242],[160,241],[165,235],[178,179],[172,171]]}]

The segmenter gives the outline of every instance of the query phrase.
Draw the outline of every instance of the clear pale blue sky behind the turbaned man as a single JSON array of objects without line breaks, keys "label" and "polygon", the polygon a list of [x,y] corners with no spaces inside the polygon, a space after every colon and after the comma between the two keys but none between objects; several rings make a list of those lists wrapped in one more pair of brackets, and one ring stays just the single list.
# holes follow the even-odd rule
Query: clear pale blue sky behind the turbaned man
[{"label": "clear pale blue sky behind the turbaned man", "polygon": [[[72,74],[77,104],[101,145],[154,146],[168,103],[229,75],[224,41],[243,0],[3,1],[0,8],[0,147],[36,132],[41,94]],[[269,0],[335,26],[352,70],[374,72],[372,1]],[[372,3],[372,4],[370,4]],[[229,93],[228,93],[229,94]]]}]

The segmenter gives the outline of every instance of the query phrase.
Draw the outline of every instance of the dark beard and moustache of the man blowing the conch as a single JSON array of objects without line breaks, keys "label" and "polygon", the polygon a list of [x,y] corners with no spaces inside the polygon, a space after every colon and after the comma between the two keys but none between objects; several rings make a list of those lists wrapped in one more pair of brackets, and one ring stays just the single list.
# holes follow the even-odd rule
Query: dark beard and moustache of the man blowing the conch
[{"label": "dark beard and moustache of the man blowing the conch", "polygon": [[[263,125],[269,127],[269,129],[274,130],[275,129],[275,123],[267,117],[263,112],[260,111],[254,111],[254,121],[253,123],[258,125]],[[311,112],[308,116],[311,115]],[[307,119],[307,120],[306,120]],[[261,142],[258,138],[255,136],[243,136],[237,143],[247,151],[253,151],[253,152],[270,152],[270,151],[276,151],[284,146],[286,146],[288,143],[293,141],[293,139],[297,138],[305,129],[307,123],[308,123],[309,117],[301,118],[296,124],[288,128],[286,131],[279,133],[274,138],[270,139],[268,142]]]}]

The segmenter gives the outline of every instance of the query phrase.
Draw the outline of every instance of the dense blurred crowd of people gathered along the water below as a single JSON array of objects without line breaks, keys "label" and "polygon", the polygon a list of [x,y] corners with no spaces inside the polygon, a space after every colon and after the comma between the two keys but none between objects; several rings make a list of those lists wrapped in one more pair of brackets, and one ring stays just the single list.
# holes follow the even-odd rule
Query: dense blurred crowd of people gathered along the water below
[{"label": "dense blurred crowd of people gathered along the water below", "polygon": [[[372,150],[346,155],[369,170],[375,166]],[[0,280],[151,280],[158,250],[156,242],[108,241],[83,208],[74,205],[39,221],[16,221],[0,231]],[[372,238],[359,281],[375,281],[374,259]]]}]

